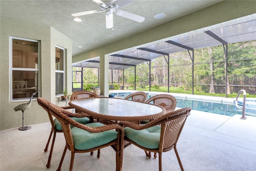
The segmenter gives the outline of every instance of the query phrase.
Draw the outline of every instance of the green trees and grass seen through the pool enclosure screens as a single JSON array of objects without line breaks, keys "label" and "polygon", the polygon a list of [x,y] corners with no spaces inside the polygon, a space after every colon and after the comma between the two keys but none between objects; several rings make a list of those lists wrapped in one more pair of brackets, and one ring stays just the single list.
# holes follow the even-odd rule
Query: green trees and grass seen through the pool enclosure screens
[{"label": "green trees and grass seen through the pool enclosure screens", "polygon": [[[114,83],[114,89],[119,89],[117,83],[122,85],[123,80],[124,85],[134,89],[136,82],[136,89],[144,91],[149,91],[148,85],[151,82],[155,85],[150,87],[151,91],[167,92],[166,60],[167,57],[163,56],[151,60],[150,79],[149,64],[144,62],[136,66],[136,80],[134,80],[134,67],[130,67],[124,70],[124,78],[122,70],[110,70],[110,82]],[[256,83],[256,41],[228,44],[227,63],[222,45],[194,50],[194,64],[187,51],[170,54],[169,61],[170,92],[192,93],[194,67],[194,94],[225,97],[227,84],[229,97],[236,97],[240,89],[246,89],[249,96],[256,96],[256,87],[253,87]],[[86,70],[84,82],[98,82],[98,73],[94,70]]]}]

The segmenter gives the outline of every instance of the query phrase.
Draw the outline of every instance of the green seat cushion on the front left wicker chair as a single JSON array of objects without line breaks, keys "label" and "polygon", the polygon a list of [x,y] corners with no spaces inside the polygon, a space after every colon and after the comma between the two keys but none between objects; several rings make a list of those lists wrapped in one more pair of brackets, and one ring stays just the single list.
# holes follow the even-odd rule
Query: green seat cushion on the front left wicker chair
[{"label": "green seat cushion on the front left wicker chair", "polygon": [[[96,122],[96,123],[88,123],[86,124],[88,127],[100,127],[104,126],[104,124]],[[117,138],[117,131],[109,130],[99,133],[91,133],[80,129],[78,127],[73,127],[71,129],[71,134],[74,142],[75,149],[78,150],[86,150],[92,149],[94,147],[98,147],[100,145],[104,145],[109,143]]]}]

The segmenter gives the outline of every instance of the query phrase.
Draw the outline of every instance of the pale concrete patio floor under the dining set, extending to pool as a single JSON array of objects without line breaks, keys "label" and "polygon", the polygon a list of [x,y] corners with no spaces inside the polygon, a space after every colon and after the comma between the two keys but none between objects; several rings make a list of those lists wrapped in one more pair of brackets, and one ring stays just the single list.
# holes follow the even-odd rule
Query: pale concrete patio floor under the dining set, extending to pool
[{"label": "pale concrete patio floor under the dining set, extending to pool", "polygon": [[[256,117],[233,117],[191,111],[177,144],[186,171],[255,171]],[[26,123],[25,123],[26,124]],[[65,140],[57,133],[52,164],[46,168],[48,152],[44,148],[50,134],[50,122],[32,126],[27,131],[18,128],[0,131],[1,171],[52,171],[58,168]],[[158,158],[148,159],[144,151],[134,145],[124,149],[123,171],[157,171]],[[68,170],[70,152],[66,153],[62,170]],[[174,150],[163,153],[164,171],[178,171],[180,167]],[[101,157],[81,153],[75,155],[74,171],[115,170],[115,152],[111,147],[101,150]]]}]

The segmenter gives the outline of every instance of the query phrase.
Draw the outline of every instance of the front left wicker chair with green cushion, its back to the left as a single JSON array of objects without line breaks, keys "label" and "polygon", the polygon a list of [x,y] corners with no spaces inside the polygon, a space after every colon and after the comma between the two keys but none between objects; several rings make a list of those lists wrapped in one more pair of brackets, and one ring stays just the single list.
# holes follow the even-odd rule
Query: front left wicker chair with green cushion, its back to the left
[{"label": "front left wicker chair with green cushion, its back to the left", "polygon": [[[49,104],[50,113],[58,119],[63,128],[66,145],[57,171],[61,170],[67,149],[71,151],[70,168],[73,170],[75,153],[86,153],[111,146],[116,151],[116,171],[122,170],[124,150],[124,129],[118,124],[104,125],[102,123],[88,123],[82,125],[70,119],[64,110],[52,103]],[[68,112],[68,111],[66,111]],[[71,128],[71,125],[73,126]]]}]

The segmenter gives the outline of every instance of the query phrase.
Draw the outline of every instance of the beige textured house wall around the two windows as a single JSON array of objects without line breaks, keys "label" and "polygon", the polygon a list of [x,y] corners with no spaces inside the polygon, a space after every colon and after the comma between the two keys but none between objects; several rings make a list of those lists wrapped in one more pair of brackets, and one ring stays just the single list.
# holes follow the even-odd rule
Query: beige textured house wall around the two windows
[{"label": "beige textured house wall around the two windows", "polygon": [[[19,104],[28,101],[10,102],[9,89],[9,36],[39,40],[41,42],[41,94],[42,97],[57,103],[55,98],[55,45],[66,48],[67,70],[72,71],[72,42],[65,35],[49,26],[37,25],[14,18],[0,18],[0,130],[22,126],[22,111],[13,110]],[[71,74],[66,82],[72,82]],[[71,89],[71,84],[68,85]],[[46,111],[32,101],[25,111],[24,125],[49,121]]]}]

